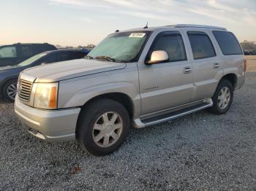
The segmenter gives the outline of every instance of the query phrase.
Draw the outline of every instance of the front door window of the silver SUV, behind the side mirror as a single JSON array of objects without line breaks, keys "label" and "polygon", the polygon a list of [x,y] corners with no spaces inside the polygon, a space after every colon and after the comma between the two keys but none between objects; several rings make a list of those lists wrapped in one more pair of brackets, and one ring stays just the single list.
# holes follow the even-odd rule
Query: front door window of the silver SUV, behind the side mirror
[{"label": "front door window of the silver SUV, behind the side mirror", "polygon": [[169,56],[169,61],[186,61],[186,51],[180,34],[161,34],[154,42],[151,52],[156,50],[165,50]]}]

